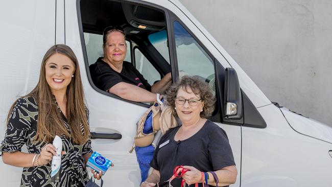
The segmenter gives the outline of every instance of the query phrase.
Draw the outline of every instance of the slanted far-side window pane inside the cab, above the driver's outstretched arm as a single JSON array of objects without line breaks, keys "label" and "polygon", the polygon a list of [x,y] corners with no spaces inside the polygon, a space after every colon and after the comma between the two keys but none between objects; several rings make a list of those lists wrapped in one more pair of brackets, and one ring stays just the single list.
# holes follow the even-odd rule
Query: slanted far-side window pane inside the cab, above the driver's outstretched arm
[{"label": "slanted far-side window pane inside the cab, above the driver's outstretched arm", "polygon": [[160,80],[160,74],[138,48],[134,49],[134,54],[136,69],[144,76],[149,84],[153,85],[155,81]]}]

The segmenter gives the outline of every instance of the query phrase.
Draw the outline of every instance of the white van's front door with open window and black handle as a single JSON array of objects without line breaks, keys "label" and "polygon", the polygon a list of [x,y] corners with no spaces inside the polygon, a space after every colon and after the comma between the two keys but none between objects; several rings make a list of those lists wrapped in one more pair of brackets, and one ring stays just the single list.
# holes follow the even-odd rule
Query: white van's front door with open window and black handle
[{"label": "white van's front door with open window and black handle", "polygon": [[[88,45],[93,42],[93,34],[97,34],[96,37],[100,40],[103,29],[109,25],[126,27],[127,39],[137,45],[137,48],[135,45],[131,46],[131,62],[145,77],[151,77],[151,82],[158,79],[158,76],[161,78],[172,71],[173,81],[178,79],[179,74],[188,74],[200,76],[210,83],[218,98],[216,111],[210,120],[227,132],[240,173],[242,122],[226,124],[222,123],[221,117],[223,87],[220,83],[223,81],[221,79],[225,66],[216,59],[221,56],[220,53],[218,56],[214,46],[206,42],[206,38],[201,38],[200,30],[188,21],[188,18],[169,1],[153,1],[153,4],[146,1],[65,1],[65,42],[79,60],[85,97],[90,110],[91,132],[103,133],[106,136],[121,134],[120,139],[114,136],[107,139],[92,139],[94,151],[110,158],[115,165],[105,174],[106,185],[139,185],[140,170],[136,156],[128,151],[133,143],[136,122],[149,106],[111,95],[98,89],[91,81],[88,65],[91,63],[92,54],[88,52],[93,52],[94,49]],[[139,23],[145,24],[148,29],[136,28]],[[191,29],[188,29],[188,26]],[[99,49],[102,49],[102,42]],[[98,57],[102,55],[97,54]],[[144,60],[145,58],[148,61]],[[156,71],[148,75],[150,71],[144,71],[146,66]],[[240,186],[240,174],[234,186]]]}]

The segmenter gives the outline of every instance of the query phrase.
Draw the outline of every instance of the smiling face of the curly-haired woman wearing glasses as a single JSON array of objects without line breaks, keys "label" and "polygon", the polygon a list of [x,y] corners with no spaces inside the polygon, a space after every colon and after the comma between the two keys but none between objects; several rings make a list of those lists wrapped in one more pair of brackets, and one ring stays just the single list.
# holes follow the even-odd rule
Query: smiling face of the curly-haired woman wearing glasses
[{"label": "smiling face of the curly-haired woman wearing glasses", "polygon": [[[200,95],[195,95],[191,88],[184,90],[179,88],[176,98],[182,98],[185,100],[200,100]],[[193,125],[200,119],[200,112],[203,109],[204,102],[198,101],[196,106],[189,105],[188,101],[185,101],[183,105],[175,102],[176,113],[179,116],[183,125]]]}]

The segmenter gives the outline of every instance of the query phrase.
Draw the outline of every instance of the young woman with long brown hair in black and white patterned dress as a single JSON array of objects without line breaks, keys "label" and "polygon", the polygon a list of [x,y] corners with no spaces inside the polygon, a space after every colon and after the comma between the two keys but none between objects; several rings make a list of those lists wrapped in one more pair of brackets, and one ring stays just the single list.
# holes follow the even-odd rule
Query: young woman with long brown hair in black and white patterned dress
[{"label": "young woman with long brown hair in black and white patterned dress", "polygon": [[[0,150],[4,163],[23,168],[20,186],[85,186],[85,163],[92,150],[80,69],[72,49],[57,44],[46,52],[37,86],[12,105],[7,124]],[[53,183],[55,135],[61,137],[63,148],[61,180]],[[28,153],[21,152],[23,144]]]}]

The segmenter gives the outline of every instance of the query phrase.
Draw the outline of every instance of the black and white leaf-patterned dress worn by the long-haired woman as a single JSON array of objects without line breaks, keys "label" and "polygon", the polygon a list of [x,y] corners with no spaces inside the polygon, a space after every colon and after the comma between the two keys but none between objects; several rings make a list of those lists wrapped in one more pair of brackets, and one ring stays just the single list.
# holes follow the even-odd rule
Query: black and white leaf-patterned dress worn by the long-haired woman
[{"label": "black and white leaf-patterned dress worn by the long-haired woman", "polygon": [[[55,98],[54,101],[56,102]],[[61,112],[58,106],[59,112]],[[87,115],[88,110],[86,109]],[[63,116],[63,123],[70,133],[70,128]],[[21,151],[25,144],[29,153],[40,153],[46,143],[36,143],[33,138],[37,132],[38,105],[34,98],[19,99],[10,114],[4,141],[1,143],[1,152]],[[81,126],[83,132],[83,126]],[[90,139],[83,145],[76,145],[73,139],[61,136],[62,150],[66,152],[61,157],[61,181],[51,181],[51,163],[40,167],[23,168],[20,186],[85,186],[89,180],[82,155],[92,153]],[[31,160],[32,161],[32,160]]]}]

